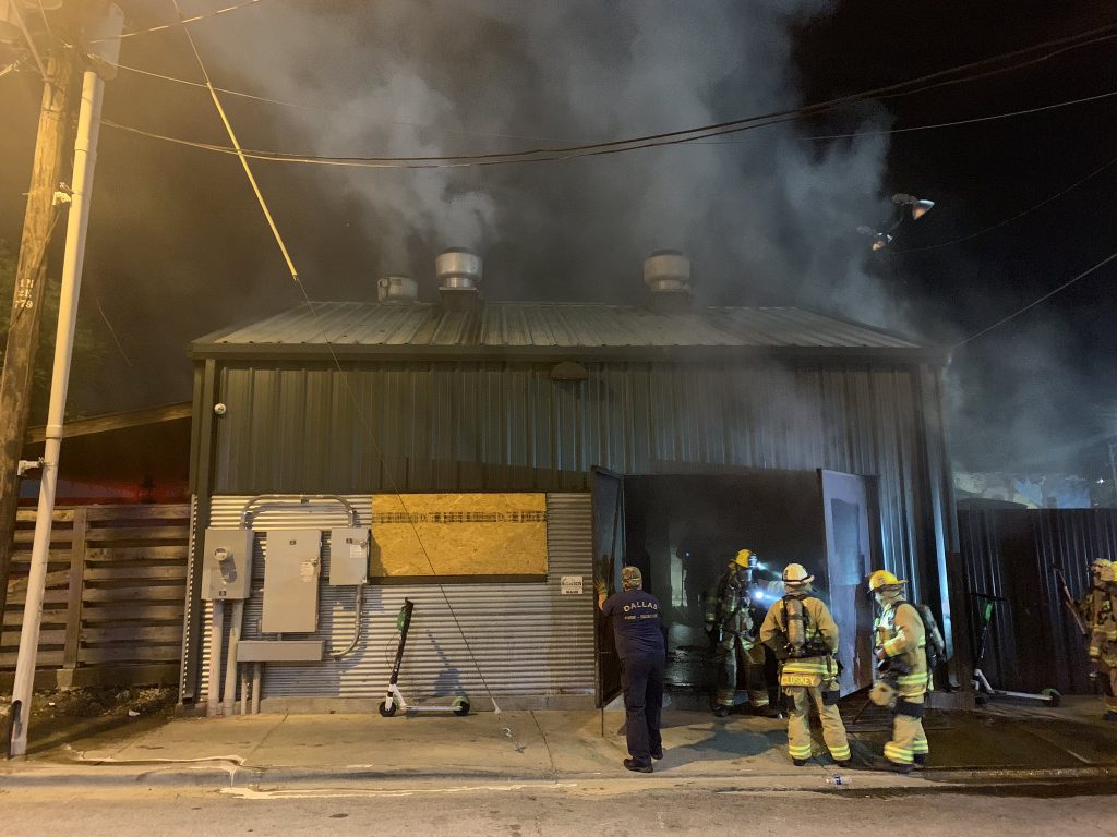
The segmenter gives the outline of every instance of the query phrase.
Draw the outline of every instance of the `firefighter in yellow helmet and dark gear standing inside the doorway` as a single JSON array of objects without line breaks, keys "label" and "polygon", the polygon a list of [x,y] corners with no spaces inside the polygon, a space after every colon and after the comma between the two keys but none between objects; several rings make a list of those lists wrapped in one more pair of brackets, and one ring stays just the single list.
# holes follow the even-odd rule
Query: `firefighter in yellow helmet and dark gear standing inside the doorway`
[{"label": "firefighter in yellow helmet and dark gear standing inside the doorway", "polygon": [[761,614],[752,600],[756,557],[742,549],[729,562],[717,588],[706,597],[706,634],[716,645],[717,700],[714,714],[725,718],[737,698],[737,672],[745,672],[748,705],[758,714],[772,712],[764,681],[764,646],[756,632]]}]

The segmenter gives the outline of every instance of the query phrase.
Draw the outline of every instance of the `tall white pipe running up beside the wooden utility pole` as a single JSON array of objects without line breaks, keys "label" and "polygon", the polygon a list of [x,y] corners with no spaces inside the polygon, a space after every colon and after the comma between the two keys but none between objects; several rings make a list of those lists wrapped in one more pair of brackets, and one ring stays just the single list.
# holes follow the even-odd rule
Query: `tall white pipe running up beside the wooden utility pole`
[{"label": "tall white pipe running up beside the wooden utility pole", "polygon": [[97,134],[101,129],[101,103],[105,83],[93,70],[82,79],[82,107],[78,112],[77,138],[74,143],[74,182],[69,218],[66,225],[66,252],[63,258],[61,299],[58,306],[58,329],[55,333],[55,365],[50,378],[50,407],[47,412],[46,450],[42,454],[42,482],[39,484],[39,507],[35,514],[35,540],[31,567],[27,579],[27,602],[16,658],[16,681],[12,686],[13,718],[9,757],[27,754],[27,724],[31,714],[35,690],[35,663],[39,650],[39,626],[42,623],[42,596],[47,578],[50,547],[50,518],[55,511],[55,488],[58,482],[58,459],[61,450],[63,416],[66,387],[69,384],[70,354],[74,348],[74,324],[82,290],[82,267],[85,261],[85,235],[89,228],[89,200],[93,172],[97,162]]}]

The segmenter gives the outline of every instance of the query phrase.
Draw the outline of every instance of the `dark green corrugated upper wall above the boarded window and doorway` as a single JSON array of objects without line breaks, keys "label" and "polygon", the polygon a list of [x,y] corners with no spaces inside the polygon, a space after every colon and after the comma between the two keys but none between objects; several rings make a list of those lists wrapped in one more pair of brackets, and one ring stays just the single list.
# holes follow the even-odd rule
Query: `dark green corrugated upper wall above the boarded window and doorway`
[{"label": "dark green corrugated upper wall above the boarded window and doorway", "polygon": [[592,465],[872,474],[886,566],[924,594],[917,567],[943,560],[936,542],[948,548],[939,400],[924,392],[937,372],[836,359],[584,366],[588,381],[555,382],[551,364],[383,362],[347,366],[346,387],[326,365],[222,363],[212,491],[585,491]]}]

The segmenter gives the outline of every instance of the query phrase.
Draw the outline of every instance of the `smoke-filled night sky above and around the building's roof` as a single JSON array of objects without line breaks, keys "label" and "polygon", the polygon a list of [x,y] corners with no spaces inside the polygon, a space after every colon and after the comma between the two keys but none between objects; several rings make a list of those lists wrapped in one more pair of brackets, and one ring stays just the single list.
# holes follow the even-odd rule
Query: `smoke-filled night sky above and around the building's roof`
[{"label": "smoke-filled night sky above and around the building's roof", "polygon": [[[174,20],[170,2],[122,6],[128,30]],[[445,6],[262,0],[190,31],[216,85],[299,105],[222,96],[246,147],[394,156],[739,118],[1117,25],[1100,0]],[[741,8],[752,6],[768,8]],[[435,254],[465,244],[486,257],[489,298],[634,304],[643,257],[677,247],[699,301],[804,305],[952,346],[1114,251],[1117,164],[1002,222],[1117,158],[1117,96],[881,132],[1113,93],[1115,45],[693,147],[439,172],[254,170],[315,299],[373,299],[389,272],[430,297]],[[12,56],[0,48],[0,66]],[[125,39],[121,61],[200,78],[181,28]],[[30,67],[0,78],[0,238],[12,246],[40,89]],[[108,84],[104,116],[228,144],[203,89],[130,70]],[[808,138],[841,133],[862,136]],[[894,192],[936,206],[872,253],[856,229],[894,223]],[[71,402],[86,413],[188,400],[189,340],[302,301],[233,157],[106,125],[93,206],[79,317],[108,349],[75,360]],[[1115,271],[957,348],[947,379],[960,468],[1106,474]]]}]

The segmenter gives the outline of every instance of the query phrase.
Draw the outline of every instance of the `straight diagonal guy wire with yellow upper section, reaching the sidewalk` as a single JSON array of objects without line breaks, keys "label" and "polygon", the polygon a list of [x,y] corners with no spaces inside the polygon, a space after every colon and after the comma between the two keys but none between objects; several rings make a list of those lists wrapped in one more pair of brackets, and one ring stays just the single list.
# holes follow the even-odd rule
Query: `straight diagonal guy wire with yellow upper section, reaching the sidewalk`
[{"label": "straight diagonal guy wire with yellow upper section, reaching the sidewalk", "polygon": [[[181,9],[179,8],[179,1],[178,0],[171,0],[171,2],[174,4],[175,11],[181,17],[182,12],[181,12]],[[221,117],[221,122],[225,125],[226,132],[229,134],[230,142],[232,142],[233,146],[237,147],[237,151],[239,153],[239,151],[240,151],[239,141],[237,140],[236,133],[232,129],[232,125],[229,123],[229,119],[228,119],[228,117],[227,117],[227,115],[225,113],[225,108],[221,106],[221,99],[220,99],[220,97],[218,97],[216,90],[213,89],[212,83],[210,80],[209,73],[207,71],[206,65],[202,61],[201,54],[198,51],[198,46],[194,44],[194,39],[190,35],[190,30],[189,29],[183,28],[183,32],[185,33],[187,39],[190,41],[191,50],[194,54],[194,58],[198,60],[198,66],[199,66],[199,68],[202,71],[202,76],[206,78],[206,85],[209,88],[211,98],[213,99],[213,105],[217,108],[218,114]],[[315,320],[318,324],[318,328],[319,328],[319,330],[322,333],[323,338],[325,339],[325,345],[326,345],[327,350],[330,352],[330,356],[333,358],[334,366],[337,368],[337,372],[340,374],[342,383],[344,384],[345,389],[346,389],[346,392],[347,392],[347,394],[349,394],[349,396],[350,396],[350,398],[351,398],[351,401],[353,403],[353,406],[354,406],[354,408],[356,411],[356,414],[360,417],[362,426],[364,427],[364,431],[367,434],[367,439],[369,439],[369,441],[371,442],[373,449],[376,452],[376,458],[380,460],[380,462],[383,465],[385,465],[384,466],[384,473],[388,477],[388,481],[389,481],[389,484],[391,487],[392,493],[394,493],[397,496],[397,498],[400,501],[400,504],[403,507],[403,511],[404,511],[404,513],[408,517],[408,522],[410,523],[412,531],[414,532],[416,540],[419,543],[419,548],[422,550],[422,554],[426,557],[427,562],[430,565],[431,571],[437,577],[438,576],[438,571],[437,571],[437,569],[435,567],[435,562],[431,560],[430,554],[427,550],[427,546],[426,546],[426,543],[423,543],[422,537],[419,535],[419,528],[418,528],[418,526],[416,525],[414,520],[411,518],[411,514],[408,512],[407,503],[403,500],[403,493],[399,490],[399,487],[395,483],[395,479],[394,479],[394,477],[391,473],[391,469],[386,466],[386,459],[384,458],[383,452],[382,452],[382,450],[380,448],[380,444],[376,441],[375,434],[372,431],[372,426],[370,425],[370,423],[367,421],[367,416],[365,416],[365,414],[364,414],[364,410],[361,406],[361,402],[360,402],[360,400],[357,400],[356,393],[353,392],[353,388],[350,385],[349,375],[346,375],[345,371],[342,368],[341,360],[337,358],[337,354],[334,352],[333,344],[330,340],[328,334],[326,334],[326,330],[325,330],[325,328],[323,326],[323,323],[322,323],[322,318],[318,315],[318,312],[315,310],[314,304],[311,301],[311,297],[309,297],[309,295],[306,291],[306,287],[304,285],[304,282],[302,281],[302,279],[299,278],[298,271],[295,269],[294,262],[290,259],[290,254],[287,251],[287,247],[286,247],[286,244],[283,241],[283,237],[279,233],[279,230],[278,230],[278,228],[275,224],[275,221],[274,221],[274,219],[271,217],[271,212],[268,210],[267,201],[265,200],[264,194],[260,192],[259,186],[256,183],[256,179],[252,176],[251,167],[248,165],[248,162],[247,162],[247,160],[244,156],[241,156],[241,164],[244,166],[245,174],[248,176],[248,180],[249,180],[249,182],[252,185],[252,191],[256,194],[256,198],[257,198],[257,201],[259,202],[260,209],[262,210],[265,217],[267,218],[268,224],[270,225],[271,231],[275,234],[276,242],[278,243],[279,249],[283,252],[284,259],[287,262],[287,267],[288,267],[288,269],[290,271],[292,279],[295,281],[296,287],[299,289],[300,294],[303,295],[303,299],[305,300],[307,308],[309,309],[311,314],[314,316]],[[484,686],[486,694],[488,695],[489,700],[493,702],[495,715],[497,718],[499,718],[499,715],[500,715],[500,706],[497,703],[496,695],[493,694],[493,690],[488,685],[488,681],[485,677],[485,673],[481,670],[480,664],[477,662],[477,657],[474,654],[472,646],[469,644],[469,639],[466,636],[465,629],[461,627],[461,623],[459,622],[458,616],[455,613],[454,605],[450,603],[450,597],[446,593],[446,587],[445,587],[445,585],[441,585],[441,584],[439,584],[438,587],[439,587],[439,590],[442,594],[442,598],[443,598],[443,600],[446,603],[446,607],[447,607],[447,609],[450,613],[450,618],[454,620],[454,624],[457,627],[459,635],[461,636],[461,641],[462,641],[462,643],[464,643],[464,645],[466,647],[466,651],[468,652],[469,657],[472,661],[474,667],[475,667],[475,670],[477,672],[477,676],[480,679],[481,685]],[[356,618],[360,619],[360,614],[356,615]],[[498,721],[498,723],[499,723],[499,721]],[[518,752],[523,752],[524,748],[516,741],[515,734],[513,733],[510,727],[503,727],[500,729],[500,731],[502,731],[502,733],[506,738],[508,738],[512,741],[513,745],[516,748],[516,750]]]}]

